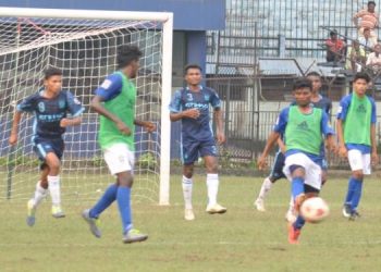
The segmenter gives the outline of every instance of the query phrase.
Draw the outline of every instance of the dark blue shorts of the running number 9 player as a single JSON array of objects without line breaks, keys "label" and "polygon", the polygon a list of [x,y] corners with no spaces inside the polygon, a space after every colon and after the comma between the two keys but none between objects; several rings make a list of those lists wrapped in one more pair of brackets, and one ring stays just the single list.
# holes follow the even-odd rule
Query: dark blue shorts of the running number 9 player
[{"label": "dark blue shorts of the running number 9 player", "polygon": [[53,152],[61,160],[63,156],[63,150],[65,148],[65,145],[62,138],[56,138],[56,139],[35,138],[33,140],[33,144],[34,144],[33,150],[36,152],[36,154],[38,156],[38,159],[41,162],[45,162],[45,158],[49,152]]}]

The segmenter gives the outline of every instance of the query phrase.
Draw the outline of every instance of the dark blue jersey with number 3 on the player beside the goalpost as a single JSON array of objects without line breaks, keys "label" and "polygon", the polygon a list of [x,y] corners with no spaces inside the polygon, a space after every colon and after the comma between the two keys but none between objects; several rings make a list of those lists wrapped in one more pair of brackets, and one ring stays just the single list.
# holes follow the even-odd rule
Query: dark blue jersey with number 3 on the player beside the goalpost
[{"label": "dark blue jersey with number 3 on the player beside the goalpost", "polygon": [[175,91],[170,111],[173,113],[198,109],[200,115],[195,119],[182,119],[182,139],[188,141],[205,141],[213,138],[213,133],[210,126],[209,106],[213,109],[221,108],[221,100],[216,90],[207,87],[200,87],[199,91],[192,91],[189,88],[184,88]]}]

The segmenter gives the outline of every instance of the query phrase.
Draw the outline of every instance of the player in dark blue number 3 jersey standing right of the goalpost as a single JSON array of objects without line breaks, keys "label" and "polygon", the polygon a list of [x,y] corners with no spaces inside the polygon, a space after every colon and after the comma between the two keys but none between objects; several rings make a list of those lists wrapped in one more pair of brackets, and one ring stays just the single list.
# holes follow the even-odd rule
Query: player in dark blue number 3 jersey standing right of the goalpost
[{"label": "player in dark blue number 3 jersey standing right of the goalpost", "polygon": [[177,90],[170,104],[172,122],[182,122],[182,187],[185,201],[185,220],[194,220],[192,206],[192,187],[194,163],[199,156],[204,158],[207,169],[208,213],[224,213],[226,208],[217,202],[219,188],[217,146],[210,125],[209,106],[213,108],[213,119],[217,125],[217,143],[223,144],[221,101],[213,89],[201,86],[201,67],[189,64],[185,67],[187,86]]}]

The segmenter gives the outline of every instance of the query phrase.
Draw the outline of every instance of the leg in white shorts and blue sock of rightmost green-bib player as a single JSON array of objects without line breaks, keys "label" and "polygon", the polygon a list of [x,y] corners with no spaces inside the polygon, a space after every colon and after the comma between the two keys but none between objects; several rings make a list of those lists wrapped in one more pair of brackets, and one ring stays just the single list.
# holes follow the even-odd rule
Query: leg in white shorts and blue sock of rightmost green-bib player
[{"label": "leg in white shorts and blue sock of rightmost green-bib player", "polygon": [[364,159],[361,152],[355,149],[349,150],[348,161],[352,170],[352,176],[348,181],[348,189],[345,197],[343,215],[345,218],[355,219],[355,217],[358,215],[356,209],[361,196],[364,180]]}]

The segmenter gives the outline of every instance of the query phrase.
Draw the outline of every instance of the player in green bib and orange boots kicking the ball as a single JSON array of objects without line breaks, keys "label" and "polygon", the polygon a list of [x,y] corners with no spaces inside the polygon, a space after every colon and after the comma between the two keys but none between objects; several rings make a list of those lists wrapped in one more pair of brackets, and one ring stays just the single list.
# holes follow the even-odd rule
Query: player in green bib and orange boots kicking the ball
[{"label": "player in green bib and orange boots kicking the ball", "polygon": [[[271,148],[283,134],[286,150],[283,172],[291,181],[294,209],[297,213],[305,199],[317,196],[320,191],[323,159],[320,148],[324,138],[328,149],[335,149],[333,131],[329,126],[327,113],[310,103],[311,89],[311,82],[307,78],[299,78],[294,83],[293,95],[296,104],[281,111],[258,161],[259,169],[263,169]],[[290,223],[290,244],[298,243],[304,224],[305,220],[300,214],[294,223]]]}]

